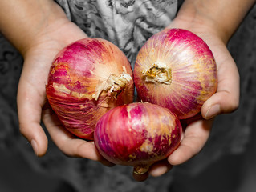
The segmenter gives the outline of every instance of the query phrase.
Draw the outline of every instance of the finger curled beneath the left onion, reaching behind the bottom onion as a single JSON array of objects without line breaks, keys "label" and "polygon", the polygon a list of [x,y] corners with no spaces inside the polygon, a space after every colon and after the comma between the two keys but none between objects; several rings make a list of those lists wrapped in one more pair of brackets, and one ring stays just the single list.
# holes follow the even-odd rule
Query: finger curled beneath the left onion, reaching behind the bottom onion
[{"label": "finger curled beneath the left onion, reaching behind the bottom onion", "polygon": [[103,158],[95,147],[94,142],[87,142],[83,139],[76,138],[59,122],[56,114],[51,109],[44,110],[43,122],[51,136],[55,145],[59,150],[69,157],[89,158],[94,161],[101,162],[105,166],[114,166],[112,162],[108,162]]}]

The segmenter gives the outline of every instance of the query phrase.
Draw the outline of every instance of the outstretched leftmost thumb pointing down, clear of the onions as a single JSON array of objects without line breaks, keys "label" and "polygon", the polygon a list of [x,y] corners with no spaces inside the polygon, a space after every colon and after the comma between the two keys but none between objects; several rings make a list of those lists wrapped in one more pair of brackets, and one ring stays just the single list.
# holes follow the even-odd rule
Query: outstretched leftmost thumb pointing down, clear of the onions
[{"label": "outstretched leftmost thumb pointing down, clear of the onions", "polygon": [[20,81],[17,96],[19,130],[35,154],[43,156],[47,152],[48,140],[40,126],[42,107],[37,95],[35,89]]}]

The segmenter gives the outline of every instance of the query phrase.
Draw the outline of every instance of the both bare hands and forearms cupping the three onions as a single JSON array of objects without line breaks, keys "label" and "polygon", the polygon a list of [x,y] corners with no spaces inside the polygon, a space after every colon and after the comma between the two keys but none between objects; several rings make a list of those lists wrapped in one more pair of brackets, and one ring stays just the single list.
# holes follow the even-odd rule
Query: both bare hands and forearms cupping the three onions
[{"label": "both bare hands and forearms cupping the three onions", "polygon": [[[133,174],[137,181],[144,181],[148,174],[160,176],[188,161],[205,145],[213,118],[238,108],[239,74],[226,44],[254,3],[255,0],[186,0],[177,18],[167,27],[190,30],[208,44],[217,62],[217,93],[202,106],[201,115],[185,122],[187,126],[177,150],[165,161],[152,165],[147,174]],[[24,58],[18,85],[18,120],[20,132],[31,143],[35,154],[43,156],[47,151],[47,136],[40,126],[42,120],[53,142],[67,156],[112,166],[100,156],[93,142],[75,138],[63,128],[45,93],[55,55],[71,42],[87,38],[87,34],[70,22],[52,0],[2,0],[0,7],[0,30]]]}]

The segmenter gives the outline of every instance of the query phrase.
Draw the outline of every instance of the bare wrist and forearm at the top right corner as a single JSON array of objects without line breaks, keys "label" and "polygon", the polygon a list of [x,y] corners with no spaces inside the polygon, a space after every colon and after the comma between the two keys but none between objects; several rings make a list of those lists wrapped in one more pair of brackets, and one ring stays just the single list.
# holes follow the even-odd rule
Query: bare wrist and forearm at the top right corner
[{"label": "bare wrist and forearm at the top right corner", "polygon": [[226,44],[254,3],[255,0],[185,0],[170,27],[205,31]]}]

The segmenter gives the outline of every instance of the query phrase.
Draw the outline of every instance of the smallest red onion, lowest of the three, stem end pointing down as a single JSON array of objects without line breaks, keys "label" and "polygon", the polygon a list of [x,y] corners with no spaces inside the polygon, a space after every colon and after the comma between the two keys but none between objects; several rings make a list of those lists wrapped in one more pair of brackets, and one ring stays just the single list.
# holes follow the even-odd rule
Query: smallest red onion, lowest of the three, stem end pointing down
[{"label": "smallest red onion, lowest of the three, stem end pointing down", "polygon": [[169,110],[151,103],[117,106],[95,126],[95,146],[109,162],[134,166],[144,174],[165,159],[181,141],[181,122]]}]

